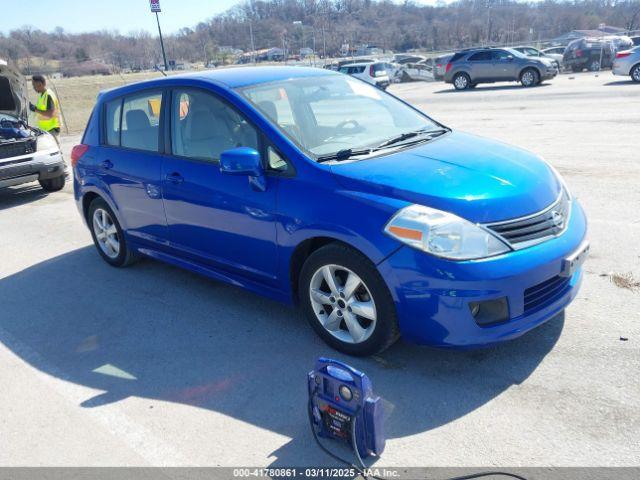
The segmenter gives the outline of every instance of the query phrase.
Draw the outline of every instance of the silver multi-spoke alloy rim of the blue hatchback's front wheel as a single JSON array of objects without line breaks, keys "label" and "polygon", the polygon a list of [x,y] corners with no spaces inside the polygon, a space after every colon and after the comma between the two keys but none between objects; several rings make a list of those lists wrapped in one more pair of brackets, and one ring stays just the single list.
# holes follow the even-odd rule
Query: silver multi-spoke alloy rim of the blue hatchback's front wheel
[{"label": "silver multi-spoke alloy rim of the blue hatchback's front wheel", "polygon": [[346,343],[366,341],[376,327],[376,305],[371,291],[353,271],[324,265],[311,277],[309,297],[320,325]]}]

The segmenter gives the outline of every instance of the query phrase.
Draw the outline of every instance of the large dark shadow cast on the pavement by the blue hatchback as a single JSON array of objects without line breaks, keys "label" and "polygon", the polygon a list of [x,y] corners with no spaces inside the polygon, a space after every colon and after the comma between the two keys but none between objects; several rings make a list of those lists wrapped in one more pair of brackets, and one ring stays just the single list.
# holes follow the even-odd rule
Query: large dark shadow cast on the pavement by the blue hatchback
[{"label": "large dark shadow cast on the pavement by the blue hatchback", "polygon": [[127,397],[220,412],[291,440],[274,465],[329,458],[312,442],[306,373],[318,356],[366,372],[388,438],[460,418],[525,381],[553,348],[558,316],[511,342],[449,351],[402,342],[370,358],[327,347],[297,310],[151,260],[106,265],[84,247],[0,279],[0,341],[39,370],[101,390],[79,408]]}]

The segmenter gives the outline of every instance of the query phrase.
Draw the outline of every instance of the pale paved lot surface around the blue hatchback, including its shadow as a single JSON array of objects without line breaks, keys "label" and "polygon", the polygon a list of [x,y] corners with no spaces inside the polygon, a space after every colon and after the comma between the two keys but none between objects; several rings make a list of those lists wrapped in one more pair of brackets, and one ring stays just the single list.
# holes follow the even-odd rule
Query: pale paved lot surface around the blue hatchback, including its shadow
[{"label": "pale paved lot surface around the blue hatchback, including its shadow", "polygon": [[[398,343],[350,359],[388,410],[376,466],[640,465],[640,85],[391,92],[443,123],[542,154],[590,222],[565,315],[495,348]],[[63,139],[65,150],[78,137]],[[305,374],[332,353],[289,307],[142,261],[100,260],[72,191],[0,192],[0,465],[331,465]]]}]

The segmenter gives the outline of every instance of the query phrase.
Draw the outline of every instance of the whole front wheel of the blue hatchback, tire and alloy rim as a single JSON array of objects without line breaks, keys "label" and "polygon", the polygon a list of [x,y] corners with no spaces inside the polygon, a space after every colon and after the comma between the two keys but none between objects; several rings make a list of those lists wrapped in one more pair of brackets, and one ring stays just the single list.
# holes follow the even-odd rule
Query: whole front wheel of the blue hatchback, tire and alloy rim
[{"label": "whole front wheel of the blue hatchback, tire and alloy rim", "polygon": [[375,265],[352,248],[332,243],[311,254],[298,292],[307,320],[336,350],[372,355],[399,338],[387,285]]}]

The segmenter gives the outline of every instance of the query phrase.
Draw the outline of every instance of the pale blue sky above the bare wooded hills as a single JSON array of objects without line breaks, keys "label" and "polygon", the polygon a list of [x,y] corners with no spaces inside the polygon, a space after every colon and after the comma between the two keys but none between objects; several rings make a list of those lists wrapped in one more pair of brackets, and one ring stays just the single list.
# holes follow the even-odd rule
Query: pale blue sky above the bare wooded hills
[{"label": "pale blue sky above the bare wooded hills", "polygon": [[[163,33],[174,33],[192,27],[217,13],[228,10],[241,0],[160,0],[160,24]],[[436,0],[417,0],[435,4]],[[2,20],[0,32],[31,25],[44,31],[62,27],[70,33],[95,30],[118,30],[126,34],[136,30],[157,32],[155,15],[149,0],[0,0]],[[18,8],[17,5],[24,5]]]}]

